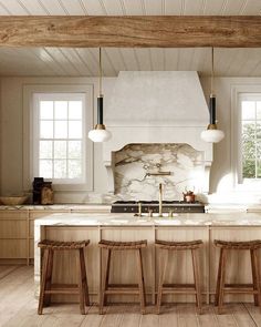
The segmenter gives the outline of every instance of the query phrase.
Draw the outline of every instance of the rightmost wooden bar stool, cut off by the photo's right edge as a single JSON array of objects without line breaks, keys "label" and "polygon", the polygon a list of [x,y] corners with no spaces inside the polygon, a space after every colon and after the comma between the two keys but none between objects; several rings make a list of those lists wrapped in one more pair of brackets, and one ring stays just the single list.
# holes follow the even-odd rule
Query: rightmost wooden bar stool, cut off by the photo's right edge
[{"label": "rightmost wooden bar stool, cut off by the photo's right edge", "polygon": [[[261,247],[261,241],[249,242],[226,242],[215,239],[213,244],[220,247],[218,278],[216,288],[215,305],[218,306],[218,313],[221,313],[225,294],[253,294],[254,305],[261,309],[261,288],[260,269],[258,264],[258,249]],[[226,284],[227,254],[228,251],[249,251],[251,257],[252,284]]]}]

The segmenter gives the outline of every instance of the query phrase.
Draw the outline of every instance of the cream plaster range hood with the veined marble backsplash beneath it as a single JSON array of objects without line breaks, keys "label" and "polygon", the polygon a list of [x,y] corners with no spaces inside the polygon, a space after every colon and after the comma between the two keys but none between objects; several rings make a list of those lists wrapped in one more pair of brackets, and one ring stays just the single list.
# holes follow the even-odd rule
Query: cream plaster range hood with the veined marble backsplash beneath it
[{"label": "cream plaster range hood with the veined marble backsplash beneath it", "polygon": [[[173,196],[180,198],[185,186],[195,187],[197,193],[208,194],[212,144],[200,139],[200,132],[209,122],[209,113],[197,72],[119,72],[105,111],[105,122],[113,134],[113,137],[103,144],[103,161],[112,195],[124,200],[137,200],[136,197],[142,196],[145,191],[140,187],[145,187],[146,184],[147,197],[143,198],[155,200],[157,184],[160,181],[167,184],[165,196],[169,200],[173,200]],[[169,178],[163,181],[152,176],[146,178],[146,183],[128,184],[135,178],[137,170],[130,173],[133,177],[125,177],[124,174],[129,173],[130,167],[134,168],[134,163],[133,166],[121,166],[117,161],[121,151],[124,154],[124,151],[129,152],[132,146],[142,146],[140,155],[145,155],[147,151],[152,154],[153,151],[153,161],[159,160],[160,156],[164,164],[161,170],[173,171]],[[167,167],[164,157],[169,151],[173,153],[173,161]],[[139,162],[143,162],[140,157]],[[189,167],[187,175],[186,167]],[[142,174],[143,170],[138,175],[139,180],[143,177]],[[196,182],[196,176],[200,178],[200,183]],[[130,186],[128,191],[127,185]]]}]

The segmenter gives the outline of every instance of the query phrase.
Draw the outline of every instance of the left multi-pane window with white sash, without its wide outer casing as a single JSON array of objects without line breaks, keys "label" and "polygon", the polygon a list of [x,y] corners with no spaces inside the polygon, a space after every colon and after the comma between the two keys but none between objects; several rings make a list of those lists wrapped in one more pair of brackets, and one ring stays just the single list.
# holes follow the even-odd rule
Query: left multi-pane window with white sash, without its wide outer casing
[{"label": "left multi-pane window with white sash, without its wide outer casing", "polygon": [[34,94],[34,175],[54,183],[85,180],[84,95]]}]

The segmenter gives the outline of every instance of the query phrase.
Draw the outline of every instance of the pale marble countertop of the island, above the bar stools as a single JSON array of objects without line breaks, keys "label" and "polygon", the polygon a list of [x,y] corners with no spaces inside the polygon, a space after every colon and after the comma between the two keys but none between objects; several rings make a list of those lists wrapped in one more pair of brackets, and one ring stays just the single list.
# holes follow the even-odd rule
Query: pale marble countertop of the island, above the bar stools
[{"label": "pale marble countertop of the island, above the bar stools", "polygon": [[52,214],[35,226],[261,226],[261,213],[176,214],[174,217],[135,217],[132,214]]}]

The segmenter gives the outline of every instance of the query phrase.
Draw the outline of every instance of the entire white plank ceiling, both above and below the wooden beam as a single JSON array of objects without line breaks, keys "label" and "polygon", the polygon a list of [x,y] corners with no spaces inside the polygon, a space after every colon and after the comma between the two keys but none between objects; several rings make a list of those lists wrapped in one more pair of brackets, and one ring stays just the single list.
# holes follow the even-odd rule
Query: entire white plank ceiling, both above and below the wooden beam
[{"label": "entire white plank ceiling, both above and below the wooden beam", "polygon": [[[261,0],[0,0],[0,16],[257,16]],[[103,49],[103,71],[196,70],[210,74],[210,49]],[[0,48],[0,75],[94,76],[97,49]],[[261,76],[261,49],[215,49],[215,73]]]}]

